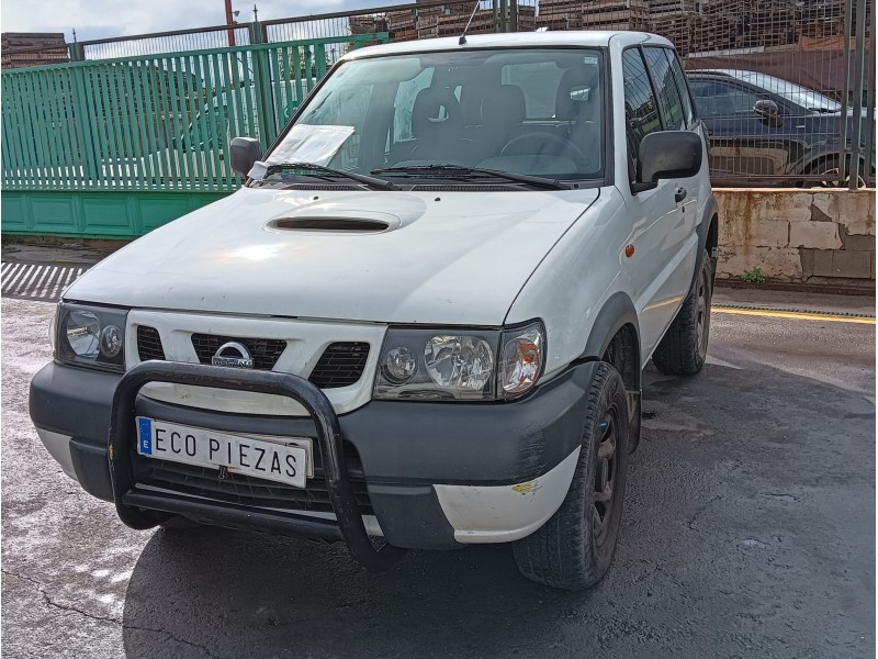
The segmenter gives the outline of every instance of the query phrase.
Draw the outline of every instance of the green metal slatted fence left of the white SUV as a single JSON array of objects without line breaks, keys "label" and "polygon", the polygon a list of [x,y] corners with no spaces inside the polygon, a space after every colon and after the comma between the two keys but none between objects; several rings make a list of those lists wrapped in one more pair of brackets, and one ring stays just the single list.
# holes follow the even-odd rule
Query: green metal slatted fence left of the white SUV
[{"label": "green metal slatted fence left of the white SUV", "polygon": [[139,235],[229,193],[239,185],[233,136],[266,147],[326,74],[328,47],[386,41],[363,34],[4,71],[3,233]]}]

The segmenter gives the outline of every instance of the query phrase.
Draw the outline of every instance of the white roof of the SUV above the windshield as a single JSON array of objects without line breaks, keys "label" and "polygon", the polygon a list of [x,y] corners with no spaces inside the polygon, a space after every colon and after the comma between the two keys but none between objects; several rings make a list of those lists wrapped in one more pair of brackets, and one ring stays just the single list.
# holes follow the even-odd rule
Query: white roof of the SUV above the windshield
[{"label": "white roof of the SUV above the windshield", "polygon": [[651,45],[671,46],[666,38],[646,32],[627,31],[598,31],[598,30],[569,30],[560,32],[513,32],[502,34],[473,34],[466,35],[465,43],[461,45],[459,36],[440,38],[424,38],[418,41],[367,46],[345,55],[342,59],[359,59],[382,55],[397,55],[405,53],[434,53],[437,51],[465,51],[475,48],[532,48],[532,47],[607,47],[618,44],[622,47],[642,43]]}]

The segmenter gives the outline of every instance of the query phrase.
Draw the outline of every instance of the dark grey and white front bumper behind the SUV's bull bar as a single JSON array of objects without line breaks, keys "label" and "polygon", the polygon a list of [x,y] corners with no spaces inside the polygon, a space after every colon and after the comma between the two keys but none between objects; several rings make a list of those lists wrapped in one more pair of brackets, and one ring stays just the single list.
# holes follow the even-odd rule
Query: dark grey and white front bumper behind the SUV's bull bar
[{"label": "dark grey and white front bumper behind the SUV's bull bar", "polygon": [[[214,367],[176,366],[200,377],[218,375]],[[149,372],[154,367],[137,368]],[[460,543],[510,541],[539,528],[558,510],[573,478],[585,417],[583,401],[595,368],[595,364],[572,367],[511,403],[372,401],[341,416],[331,413],[340,429],[339,442],[344,438],[359,456],[357,477],[364,480],[374,513],[373,518],[365,517],[368,533],[381,534],[398,547],[447,548]],[[154,378],[151,372],[145,381]],[[300,380],[249,373],[272,381],[275,376]],[[119,492],[114,482],[119,479],[111,478],[108,460],[108,428],[121,380],[114,373],[50,364],[31,383],[31,417],[41,438],[86,491],[117,505],[179,513],[206,523],[341,537],[342,524],[335,514],[305,511],[294,517],[304,516],[306,523],[282,527],[274,511],[237,510],[191,492],[144,490],[136,482],[127,482],[130,492]],[[313,437],[318,446],[325,444],[313,417],[227,414],[142,395],[132,400],[134,404],[120,412],[131,421],[119,431],[123,453],[123,445],[134,446],[135,415],[232,433]],[[126,495],[128,503],[120,502]],[[148,521],[157,523],[155,516]]]}]

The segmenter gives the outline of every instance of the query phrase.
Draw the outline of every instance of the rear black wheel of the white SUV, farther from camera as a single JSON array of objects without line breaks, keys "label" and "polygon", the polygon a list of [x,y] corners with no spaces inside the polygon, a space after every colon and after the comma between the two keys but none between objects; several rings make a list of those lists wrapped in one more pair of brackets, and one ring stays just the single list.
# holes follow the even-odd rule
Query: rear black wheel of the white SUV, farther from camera
[{"label": "rear black wheel of the white SUV, farther from camera", "polygon": [[652,354],[652,362],[663,373],[693,376],[705,366],[712,295],[713,264],[705,250],[695,287]]}]

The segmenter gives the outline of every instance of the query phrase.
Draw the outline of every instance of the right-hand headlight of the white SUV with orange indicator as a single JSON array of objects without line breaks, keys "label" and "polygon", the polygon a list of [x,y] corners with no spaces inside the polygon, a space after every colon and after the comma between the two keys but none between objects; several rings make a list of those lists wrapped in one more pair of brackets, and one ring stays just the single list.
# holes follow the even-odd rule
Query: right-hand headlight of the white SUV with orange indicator
[{"label": "right-hand headlight of the white SUV with orange indicator", "polygon": [[542,373],[542,323],[507,331],[391,327],[374,398],[493,401],[528,392]]}]

